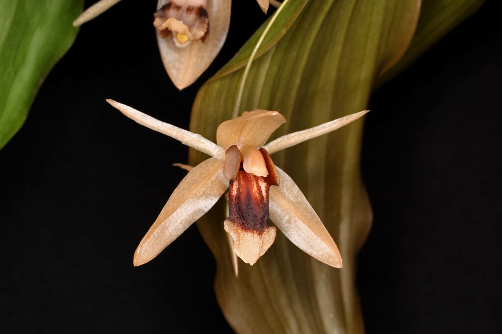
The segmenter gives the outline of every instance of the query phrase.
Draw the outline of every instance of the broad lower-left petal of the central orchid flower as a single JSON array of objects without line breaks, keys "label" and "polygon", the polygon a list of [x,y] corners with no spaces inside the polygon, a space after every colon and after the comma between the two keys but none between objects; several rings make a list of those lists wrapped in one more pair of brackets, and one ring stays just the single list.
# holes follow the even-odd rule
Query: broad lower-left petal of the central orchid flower
[{"label": "broad lower-left petal of the central orchid flower", "polygon": [[156,257],[174,239],[205,214],[228,188],[223,164],[209,158],[195,166],[181,181],[134,254],[134,265]]}]

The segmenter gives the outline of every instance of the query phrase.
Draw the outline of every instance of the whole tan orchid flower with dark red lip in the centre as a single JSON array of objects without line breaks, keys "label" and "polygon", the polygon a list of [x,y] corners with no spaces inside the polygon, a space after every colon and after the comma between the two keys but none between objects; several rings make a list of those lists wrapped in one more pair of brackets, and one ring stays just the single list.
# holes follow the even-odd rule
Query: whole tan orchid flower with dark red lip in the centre
[{"label": "whole tan orchid flower with dark red lip in the centre", "polygon": [[[364,110],[265,144],[286,119],[277,111],[253,110],[224,121],[216,142],[164,123],[127,105],[106,100],[136,122],[175,138],[211,157],[193,169],[162,209],[134,255],[142,265],[204,215],[228,189],[228,218],[223,227],[231,236],[232,251],[253,265],[269,249],[276,228],[296,246],[321,262],[341,268],[338,248],[294,181],[274,165],[269,154],[334,131],[364,115]],[[187,168],[188,167],[188,168]],[[237,273],[236,261],[234,269]]]}]

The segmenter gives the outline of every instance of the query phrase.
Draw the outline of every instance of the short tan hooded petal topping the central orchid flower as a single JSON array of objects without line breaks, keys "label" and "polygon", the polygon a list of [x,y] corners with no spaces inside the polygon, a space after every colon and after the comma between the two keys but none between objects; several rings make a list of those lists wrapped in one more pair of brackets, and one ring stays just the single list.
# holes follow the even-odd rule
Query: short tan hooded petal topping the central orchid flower
[{"label": "short tan hooded petal topping the central orchid flower", "polygon": [[278,111],[244,111],[242,116],[224,121],[216,130],[216,142],[227,149],[231,145],[239,148],[244,144],[261,147],[286,118]]}]

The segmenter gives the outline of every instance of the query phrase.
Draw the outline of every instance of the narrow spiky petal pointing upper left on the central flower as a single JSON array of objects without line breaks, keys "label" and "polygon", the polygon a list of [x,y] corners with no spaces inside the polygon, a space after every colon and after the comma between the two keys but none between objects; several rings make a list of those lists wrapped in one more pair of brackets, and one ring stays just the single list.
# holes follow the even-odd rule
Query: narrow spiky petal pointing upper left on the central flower
[{"label": "narrow spiky petal pointing upper left on the central flower", "polygon": [[185,145],[198,149],[199,151],[220,159],[221,161],[223,161],[225,157],[225,152],[221,147],[204,138],[200,134],[187,131],[169,123],[164,123],[163,121],[153,118],[152,116],[149,116],[139,110],[111,99],[106,99],[106,102],[141,125],[168,135],[171,138],[181,141]]}]

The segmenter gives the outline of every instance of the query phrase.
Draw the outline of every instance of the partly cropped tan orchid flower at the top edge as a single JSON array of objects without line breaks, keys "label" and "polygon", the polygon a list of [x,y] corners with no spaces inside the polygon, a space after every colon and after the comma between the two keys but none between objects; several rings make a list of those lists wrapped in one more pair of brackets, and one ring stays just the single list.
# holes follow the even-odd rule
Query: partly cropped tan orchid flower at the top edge
[{"label": "partly cropped tan orchid flower at the top edge", "polygon": [[[100,0],[73,25],[92,20],[120,0]],[[257,0],[267,13],[269,0]],[[272,0],[273,5],[280,5]],[[159,0],[154,27],[162,63],[174,85],[190,86],[218,55],[230,25],[231,0]],[[172,36],[172,38],[171,38]]]}]

